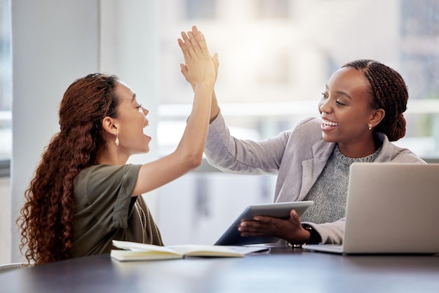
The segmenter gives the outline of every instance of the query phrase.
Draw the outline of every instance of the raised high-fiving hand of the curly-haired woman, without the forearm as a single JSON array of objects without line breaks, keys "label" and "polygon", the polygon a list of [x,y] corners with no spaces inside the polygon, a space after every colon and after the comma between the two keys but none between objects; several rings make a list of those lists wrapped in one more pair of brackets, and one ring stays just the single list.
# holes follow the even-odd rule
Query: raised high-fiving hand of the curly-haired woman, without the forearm
[{"label": "raised high-fiving hand of the curly-haired woman, without the forearm", "polygon": [[204,35],[192,27],[191,32],[182,32],[182,39],[178,39],[184,55],[185,64],[180,64],[184,78],[191,83],[192,88],[203,82],[215,83],[218,71],[218,55],[210,56]]}]

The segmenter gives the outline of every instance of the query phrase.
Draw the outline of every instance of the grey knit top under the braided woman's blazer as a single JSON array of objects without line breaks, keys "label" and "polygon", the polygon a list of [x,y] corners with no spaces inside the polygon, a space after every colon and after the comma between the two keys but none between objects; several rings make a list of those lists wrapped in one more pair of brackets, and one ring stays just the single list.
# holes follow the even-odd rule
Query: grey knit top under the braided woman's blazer
[{"label": "grey knit top under the braided woman's blazer", "polygon": [[354,162],[373,162],[379,151],[381,147],[369,156],[349,158],[340,152],[337,144],[316,183],[304,198],[313,200],[314,204],[302,215],[302,222],[322,224],[345,217],[349,166]]}]

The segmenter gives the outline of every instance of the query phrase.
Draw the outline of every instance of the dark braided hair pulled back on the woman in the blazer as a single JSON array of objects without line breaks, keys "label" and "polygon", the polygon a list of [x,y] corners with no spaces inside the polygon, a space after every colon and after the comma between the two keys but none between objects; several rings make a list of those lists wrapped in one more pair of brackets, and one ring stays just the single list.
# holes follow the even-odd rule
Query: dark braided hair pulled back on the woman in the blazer
[{"label": "dark braided hair pulled back on the woman in the blazer", "polygon": [[409,95],[403,77],[396,70],[374,60],[356,60],[343,67],[363,71],[370,83],[372,109],[384,109],[386,112],[374,131],[383,132],[391,142],[404,137],[403,113],[407,109]]}]

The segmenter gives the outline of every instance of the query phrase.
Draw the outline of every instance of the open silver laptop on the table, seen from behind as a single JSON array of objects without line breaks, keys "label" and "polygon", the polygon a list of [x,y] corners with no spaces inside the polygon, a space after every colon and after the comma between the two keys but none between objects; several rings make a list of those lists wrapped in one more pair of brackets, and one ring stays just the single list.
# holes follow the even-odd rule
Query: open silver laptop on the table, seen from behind
[{"label": "open silver laptop on the table, seen from behind", "polygon": [[439,163],[353,163],[339,254],[439,253]]}]

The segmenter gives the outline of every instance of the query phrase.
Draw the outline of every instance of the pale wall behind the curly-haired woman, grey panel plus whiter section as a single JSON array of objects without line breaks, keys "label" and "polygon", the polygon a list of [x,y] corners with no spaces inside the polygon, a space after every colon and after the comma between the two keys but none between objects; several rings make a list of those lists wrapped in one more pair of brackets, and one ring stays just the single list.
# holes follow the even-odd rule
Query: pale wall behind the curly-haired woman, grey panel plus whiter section
[{"label": "pale wall behind the curly-haired woman, grey panel plus whiter section", "polygon": [[59,130],[58,106],[69,84],[97,71],[119,75],[154,117],[156,2],[12,1],[11,261],[22,260],[15,219],[43,148]]}]

